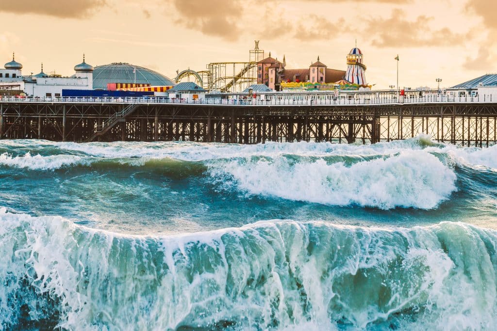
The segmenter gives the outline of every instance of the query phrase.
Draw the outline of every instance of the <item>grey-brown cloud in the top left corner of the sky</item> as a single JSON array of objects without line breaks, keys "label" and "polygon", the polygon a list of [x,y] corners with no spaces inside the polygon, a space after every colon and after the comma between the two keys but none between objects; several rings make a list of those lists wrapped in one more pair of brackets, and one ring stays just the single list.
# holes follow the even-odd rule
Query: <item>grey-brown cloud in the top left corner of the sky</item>
[{"label": "grey-brown cloud in the top left corner of the sky", "polygon": [[0,0],[0,12],[86,18],[105,5],[106,0]]}]

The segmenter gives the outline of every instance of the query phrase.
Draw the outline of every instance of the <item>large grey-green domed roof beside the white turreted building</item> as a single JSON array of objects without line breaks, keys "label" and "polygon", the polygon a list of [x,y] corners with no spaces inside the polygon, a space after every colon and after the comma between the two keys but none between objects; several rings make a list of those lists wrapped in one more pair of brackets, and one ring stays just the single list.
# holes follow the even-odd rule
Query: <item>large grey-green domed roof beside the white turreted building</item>
[{"label": "large grey-green domed roof beside the white turreted building", "polygon": [[143,66],[119,62],[95,66],[93,70],[93,88],[106,89],[108,83],[134,83],[135,73],[133,70],[135,69],[137,84],[150,84],[152,86],[175,85],[170,78],[157,71]]}]

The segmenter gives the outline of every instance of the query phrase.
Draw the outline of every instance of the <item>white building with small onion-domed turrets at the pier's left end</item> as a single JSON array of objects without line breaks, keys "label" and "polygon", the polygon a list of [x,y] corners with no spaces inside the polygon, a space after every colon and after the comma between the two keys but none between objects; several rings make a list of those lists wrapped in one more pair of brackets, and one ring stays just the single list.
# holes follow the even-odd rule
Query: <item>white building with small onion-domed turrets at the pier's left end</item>
[{"label": "white building with small onion-domed turrets at the pier's left end", "polygon": [[0,69],[0,88],[22,90],[27,96],[33,97],[60,97],[63,89],[92,90],[93,66],[83,63],[74,67],[75,74],[71,77],[48,75],[41,72],[32,76],[22,76],[22,65],[12,61],[5,64],[5,69]]}]

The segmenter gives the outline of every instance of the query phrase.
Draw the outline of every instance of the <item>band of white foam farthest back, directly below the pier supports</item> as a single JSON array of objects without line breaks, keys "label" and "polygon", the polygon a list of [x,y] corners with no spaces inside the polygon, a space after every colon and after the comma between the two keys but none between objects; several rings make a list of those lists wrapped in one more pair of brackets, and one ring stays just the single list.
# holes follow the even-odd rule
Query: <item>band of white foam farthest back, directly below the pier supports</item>
[{"label": "band of white foam farthest back, directly below the pier supports", "polygon": [[[326,157],[340,156],[389,156],[403,151],[423,150],[435,154],[445,154],[455,162],[463,165],[475,165],[497,169],[497,146],[489,148],[458,147],[450,144],[434,143],[427,136],[420,135],[413,139],[380,142],[372,145],[337,144],[330,142],[293,142],[238,145],[222,143],[197,142],[91,142],[52,143],[45,140],[37,144],[28,140],[0,143],[3,148],[11,150],[0,154],[0,164],[29,168],[33,170],[57,169],[63,166],[88,165],[95,160],[118,160],[131,165],[145,164],[148,160],[172,158],[181,161],[209,161],[230,158],[248,158],[252,156],[280,157],[282,155]],[[51,146],[62,154],[40,156],[37,148]],[[31,148],[31,152],[12,157],[16,149]],[[22,150],[22,149],[21,149]],[[75,155],[76,154],[76,155]],[[130,160],[134,158],[135,161]],[[139,161],[138,159],[142,159]]]}]

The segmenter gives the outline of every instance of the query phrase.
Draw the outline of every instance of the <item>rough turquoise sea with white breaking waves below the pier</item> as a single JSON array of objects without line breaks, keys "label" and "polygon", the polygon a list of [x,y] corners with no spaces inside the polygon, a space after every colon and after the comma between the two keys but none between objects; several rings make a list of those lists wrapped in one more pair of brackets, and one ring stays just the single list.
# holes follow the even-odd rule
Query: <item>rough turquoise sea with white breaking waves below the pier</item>
[{"label": "rough turquoise sea with white breaking waves below the pier", "polygon": [[496,330],[497,146],[0,140],[0,330]]}]

